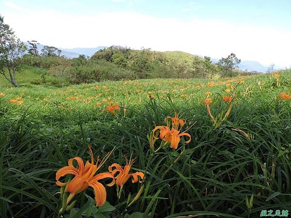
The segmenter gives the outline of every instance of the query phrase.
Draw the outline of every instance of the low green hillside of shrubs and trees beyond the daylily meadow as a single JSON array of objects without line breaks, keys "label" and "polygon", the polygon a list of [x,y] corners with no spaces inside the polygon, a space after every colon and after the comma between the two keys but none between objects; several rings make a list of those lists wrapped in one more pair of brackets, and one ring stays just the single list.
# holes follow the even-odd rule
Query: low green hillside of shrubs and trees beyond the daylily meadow
[{"label": "low green hillside of shrubs and trees beyond the daylily meadow", "polygon": [[[227,68],[229,66],[222,67],[212,63],[209,57],[200,58],[181,51],[157,52],[150,49],[133,50],[112,46],[97,51],[90,59],[84,55],[66,59],[49,49],[53,48],[49,47],[44,55],[25,54],[19,60],[19,66],[15,68],[17,73],[15,78],[13,77],[13,80],[16,79],[14,82],[17,83],[19,80],[21,83],[22,75],[31,78],[29,80],[32,84],[61,87],[109,80],[224,78],[254,74],[237,68]],[[7,69],[3,70],[3,74],[9,78]],[[0,79],[5,80],[4,77]]]}]

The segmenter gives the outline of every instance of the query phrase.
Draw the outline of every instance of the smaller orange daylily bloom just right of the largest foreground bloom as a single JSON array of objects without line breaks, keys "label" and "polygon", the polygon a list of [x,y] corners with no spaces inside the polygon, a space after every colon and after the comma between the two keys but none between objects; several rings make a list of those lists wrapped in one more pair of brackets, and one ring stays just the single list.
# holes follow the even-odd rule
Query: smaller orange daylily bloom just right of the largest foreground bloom
[{"label": "smaller orange daylily bloom just right of the largest foreground bloom", "polygon": [[[136,183],[139,181],[138,177],[140,177],[141,179],[144,179],[145,174],[143,172],[134,172],[134,173],[129,173],[130,168],[132,166],[132,164],[135,161],[134,159],[127,159],[127,157],[125,157],[126,159],[126,165],[124,166],[124,168],[122,169],[122,167],[117,164],[117,163],[113,163],[111,166],[109,166],[108,170],[112,173],[112,175],[114,176],[117,172],[118,175],[114,178],[116,178],[116,185],[123,187],[123,185],[129,180],[130,177],[132,177],[131,182],[132,183]],[[112,168],[115,167],[115,169],[113,170]],[[142,182],[142,181],[139,181]]]}]

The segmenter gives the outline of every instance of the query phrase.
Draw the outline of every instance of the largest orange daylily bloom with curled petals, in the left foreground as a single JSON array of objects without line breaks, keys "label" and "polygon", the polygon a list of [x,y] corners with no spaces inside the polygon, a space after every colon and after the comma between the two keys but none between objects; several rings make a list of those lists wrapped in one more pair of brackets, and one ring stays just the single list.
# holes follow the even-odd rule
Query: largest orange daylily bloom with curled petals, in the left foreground
[{"label": "largest orange daylily bloom with curled petals, in the left foreground", "polygon": [[[76,194],[82,192],[87,187],[93,187],[95,192],[95,201],[96,206],[101,206],[106,202],[106,189],[105,187],[99,183],[98,181],[104,178],[112,178],[112,183],[108,184],[107,186],[113,186],[115,183],[114,177],[110,172],[101,172],[95,175],[95,173],[100,169],[100,167],[104,164],[107,160],[108,156],[105,156],[104,159],[100,162],[99,156],[97,158],[96,164],[94,164],[93,152],[91,147],[89,146],[89,153],[91,156],[91,163],[89,161],[86,162],[84,166],[84,162],[80,157],[74,157],[69,159],[68,166],[61,168],[56,173],[56,184],[58,186],[65,186],[66,183],[60,182],[59,179],[66,174],[75,175],[72,181],[69,182],[67,186],[67,191],[71,193],[69,199],[71,200]],[[76,160],[78,163],[78,168],[73,166],[73,160]]]}]

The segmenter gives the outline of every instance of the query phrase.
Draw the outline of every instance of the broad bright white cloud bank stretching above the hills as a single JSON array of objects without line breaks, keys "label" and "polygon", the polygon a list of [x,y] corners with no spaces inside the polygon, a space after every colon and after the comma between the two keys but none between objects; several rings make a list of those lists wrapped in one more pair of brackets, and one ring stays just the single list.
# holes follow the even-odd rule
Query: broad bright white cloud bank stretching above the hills
[{"label": "broad bright white cloud bank stretching above the hills", "polygon": [[[7,13],[22,40],[56,47],[121,45],[153,50],[181,50],[213,58],[234,52],[242,60],[291,65],[291,31],[234,26],[219,20],[183,22],[134,13],[69,16],[55,11]],[[35,19],[37,17],[37,19]]]}]

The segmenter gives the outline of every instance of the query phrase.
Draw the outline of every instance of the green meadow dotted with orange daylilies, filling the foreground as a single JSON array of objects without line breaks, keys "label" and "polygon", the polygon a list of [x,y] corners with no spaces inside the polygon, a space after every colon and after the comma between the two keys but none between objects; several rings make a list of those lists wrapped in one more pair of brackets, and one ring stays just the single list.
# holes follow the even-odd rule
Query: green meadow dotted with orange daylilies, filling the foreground
[{"label": "green meadow dotted with orange daylilies, filling the foreground", "polygon": [[291,211],[291,72],[0,84],[1,218]]}]

